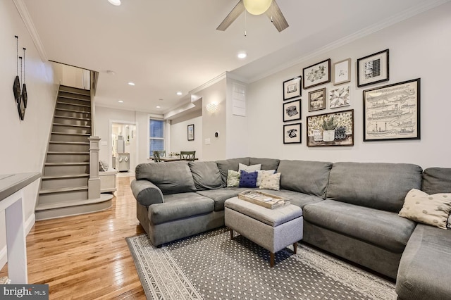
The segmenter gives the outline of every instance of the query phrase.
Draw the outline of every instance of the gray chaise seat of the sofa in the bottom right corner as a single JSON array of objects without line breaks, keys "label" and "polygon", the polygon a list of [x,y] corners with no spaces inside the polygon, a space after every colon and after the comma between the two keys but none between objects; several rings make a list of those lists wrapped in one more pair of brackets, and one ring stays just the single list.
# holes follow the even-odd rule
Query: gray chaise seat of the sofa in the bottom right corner
[{"label": "gray chaise seat of the sofa in the bottom right corner", "polygon": [[450,299],[451,230],[416,225],[396,279],[399,299]]}]

